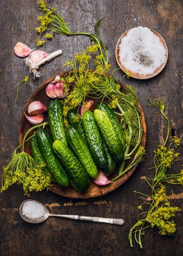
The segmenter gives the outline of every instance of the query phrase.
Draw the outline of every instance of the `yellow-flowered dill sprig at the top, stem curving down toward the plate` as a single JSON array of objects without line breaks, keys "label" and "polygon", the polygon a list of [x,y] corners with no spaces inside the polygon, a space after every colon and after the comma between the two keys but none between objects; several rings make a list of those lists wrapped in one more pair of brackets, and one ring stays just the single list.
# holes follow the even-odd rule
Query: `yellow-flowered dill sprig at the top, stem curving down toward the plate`
[{"label": "yellow-flowered dill sprig at the top, stem curving down toward the plate", "polygon": [[[62,15],[56,10],[54,6],[50,8],[49,4],[45,0],[39,0],[39,9],[41,10],[41,15],[37,18],[40,23],[40,26],[36,28],[37,32],[39,33],[39,37],[37,39],[37,46],[42,46],[42,44],[45,43],[45,40],[41,39],[42,34],[45,34],[45,38],[48,39],[53,38],[53,33],[58,33],[62,35],[85,35],[88,36],[91,41],[94,41],[96,44],[99,45],[99,51],[102,55],[102,59],[105,64],[108,64],[108,53],[106,50],[106,46],[100,38],[100,33],[98,29],[98,24],[102,19],[97,21],[95,24],[98,36],[87,32],[70,33],[67,24],[63,20]],[[104,54],[106,55],[106,58],[104,57]]]}]

